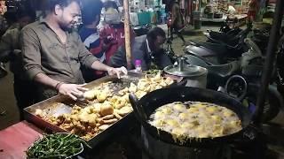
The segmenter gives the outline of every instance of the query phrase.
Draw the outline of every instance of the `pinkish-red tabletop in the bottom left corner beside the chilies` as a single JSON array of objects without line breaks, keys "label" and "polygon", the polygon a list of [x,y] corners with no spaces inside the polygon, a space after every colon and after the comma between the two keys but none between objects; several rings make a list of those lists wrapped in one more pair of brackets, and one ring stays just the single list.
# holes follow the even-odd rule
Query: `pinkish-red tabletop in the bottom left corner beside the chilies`
[{"label": "pinkish-red tabletop in the bottom left corner beside the chilies", "polygon": [[26,158],[25,151],[42,134],[42,130],[27,121],[22,121],[0,131],[0,159]]}]

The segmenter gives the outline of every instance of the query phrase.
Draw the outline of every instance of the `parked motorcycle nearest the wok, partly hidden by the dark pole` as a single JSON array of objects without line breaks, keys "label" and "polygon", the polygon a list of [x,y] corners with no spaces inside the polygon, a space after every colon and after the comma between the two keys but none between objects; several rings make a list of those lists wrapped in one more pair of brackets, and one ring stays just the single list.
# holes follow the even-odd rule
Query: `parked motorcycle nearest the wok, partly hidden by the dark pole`
[{"label": "parked motorcycle nearest the wok, partly hidden by the dark pole", "polygon": [[[256,110],[257,91],[263,70],[264,55],[249,39],[244,41],[248,45],[248,52],[240,60],[227,64],[212,64],[202,57],[185,55],[188,64],[199,65],[208,69],[208,88],[224,92],[243,102],[251,113]],[[275,83],[268,87],[267,99],[264,104],[264,121],[276,117],[284,108],[283,98]]]}]

